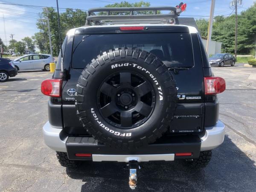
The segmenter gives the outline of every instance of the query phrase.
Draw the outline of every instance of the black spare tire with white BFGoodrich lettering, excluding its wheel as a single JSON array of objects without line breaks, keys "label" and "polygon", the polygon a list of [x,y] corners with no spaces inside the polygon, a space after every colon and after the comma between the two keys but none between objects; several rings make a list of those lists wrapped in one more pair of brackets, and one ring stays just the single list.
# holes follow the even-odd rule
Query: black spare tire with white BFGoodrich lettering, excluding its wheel
[{"label": "black spare tire with white BFGoodrich lettering, excluding its wheel", "polygon": [[[104,119],[99,107],[97,107],[99,102],[96,102],[98,98],[96,91],[99,90],[100,84],[108,76],[127,70],[134,70],[135,73],[141,76],[145,75],[145,71],[141,72],[141,68],[139,70],[134,67],[136,68],[134,69],[133,66],[129,65],[126,68],[124,66],[112,68],[116,63],[128,63],[129,65],[137,63],[138,66],[145,67],[152,76],[154,75],[162,87],[161,93],[163,93],[164,99],[160,101],[157,85],[154,84],[153,79],[150,79],[152,77],[146,74],[150,83],[154,84],[152,87],[157,93],[155,96],[156,102],[148,120],[136,128],[117,128]],[[166,65],[155,55],[137,48],[110,49],[108,52],[98,55],[82,71],[76,90],[76,110],[83,127],[96,140],[114,148],[138,148],[148,145],[148,143],[154,143],[168,130],[177,107],[177,89],[172,72],[168,71]],[[131,137],[121,137],[121,134],[129,132],[131,132]],[[115,135],[116,133],[119,135]]]}]

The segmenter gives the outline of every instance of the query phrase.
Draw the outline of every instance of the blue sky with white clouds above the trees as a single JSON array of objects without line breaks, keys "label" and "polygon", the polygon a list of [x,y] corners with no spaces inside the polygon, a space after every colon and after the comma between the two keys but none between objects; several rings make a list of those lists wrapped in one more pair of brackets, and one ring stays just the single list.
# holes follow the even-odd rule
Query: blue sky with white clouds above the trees
[{"label": "blue sky with white clouds above the trees", "polygon": [[[129,3],[139,2],[140,0],[126,0]],[[144,0],[151,3],[151,6],[176,6],[181,0]],[[229,16],[233,13],[233,8],[230,8],[231,0],[216,0],[214,15]],[[256,0],[242,0],[242,5],[238,8],[238,13],[246,10],[253,5]],[[74,8],[74,9],[90,9],[94,7],[103,7],[107,4],[120,3],[121,0],[58,0],[59,8]],[[181,14],[181,17],[195,17],[209,18],[211,0],[184,0],[187,3],[186,11]],[[48,6],[56,7],[55,0],[0,0],[0,38],[3,43],[9,43],[11,37],[10,34],[14,34],[13,38],[20,41],[24,37],[31,37],[38,32],[36,27],[38,13],[42,12],[42,8],[29,7],[29,6],[17,6],[17,5],[5,5],[1,3],[22,4],[32,6]],[[64,12],[64,9],[60,9],[60,12]],[[4,32],[4,22],[6,37]]]}]

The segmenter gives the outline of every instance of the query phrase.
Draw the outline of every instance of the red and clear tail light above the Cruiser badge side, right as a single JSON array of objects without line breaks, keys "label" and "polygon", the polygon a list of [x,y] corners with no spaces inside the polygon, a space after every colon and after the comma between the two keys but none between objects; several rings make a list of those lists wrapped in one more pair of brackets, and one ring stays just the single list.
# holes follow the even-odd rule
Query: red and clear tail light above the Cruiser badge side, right
[{"label": "red and clear tail light above the Cruiser badge side, right", "polygon": [[204,94],[214,95],[226,89],[226,82],[221,77],[204,77]]}]

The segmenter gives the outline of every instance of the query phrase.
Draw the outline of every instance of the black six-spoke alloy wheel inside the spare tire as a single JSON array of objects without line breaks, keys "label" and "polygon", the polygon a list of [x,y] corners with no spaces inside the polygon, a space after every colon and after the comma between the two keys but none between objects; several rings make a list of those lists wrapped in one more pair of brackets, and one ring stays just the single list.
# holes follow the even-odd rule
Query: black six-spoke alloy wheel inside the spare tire
[{"label": "black six-spoke alloy wheel inside the spare tire", "polygon": [[103,81],[97,103],[103,118],[111,125],[122,129],[135,128],[151,116],[155,93],[143,75],[123,71]]}]

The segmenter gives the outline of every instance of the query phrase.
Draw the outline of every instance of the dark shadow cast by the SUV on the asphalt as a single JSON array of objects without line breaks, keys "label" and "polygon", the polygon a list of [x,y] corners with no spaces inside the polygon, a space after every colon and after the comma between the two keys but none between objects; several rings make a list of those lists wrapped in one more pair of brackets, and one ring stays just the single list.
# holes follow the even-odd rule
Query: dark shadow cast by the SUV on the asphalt
[{"label": "dark shadow cast by the SUV on the asphalt", "polygon": [[[212,153],[204,169],[175,162],[140,163],[137,191],[254,191],[256,166],[228,136]],[[66,169],[67,175],[82,180],[84,191],[131,191],[125,163],[84,162],[76,169]]]}]

